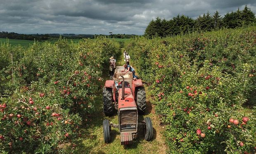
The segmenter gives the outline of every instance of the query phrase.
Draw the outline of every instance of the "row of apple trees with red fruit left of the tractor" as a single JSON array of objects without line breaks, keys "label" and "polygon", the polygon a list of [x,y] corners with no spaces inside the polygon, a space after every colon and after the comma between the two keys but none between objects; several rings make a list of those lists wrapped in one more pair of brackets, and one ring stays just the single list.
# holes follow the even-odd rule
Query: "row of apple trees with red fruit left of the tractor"
[{"label": "row of apple trees with red fruit left of the tractor", "polygon": [[101,92],[104,66],[118,52],[106,38],[1,44],[0,152],[72,152]]}]

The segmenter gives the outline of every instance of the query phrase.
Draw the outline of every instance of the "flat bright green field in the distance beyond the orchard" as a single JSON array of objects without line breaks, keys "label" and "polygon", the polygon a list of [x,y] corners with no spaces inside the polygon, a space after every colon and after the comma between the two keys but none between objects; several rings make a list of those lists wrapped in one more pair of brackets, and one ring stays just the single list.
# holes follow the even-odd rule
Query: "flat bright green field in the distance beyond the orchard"
[{"label": "flat bright green field in the distance beyond the orchard", "polygon": [[[51,43],[55,43],[58,39],[52,39],[49,40]],[[73,41],[74,43],[78,43],[81,39],[68,39],[69,41]],[[128,39],[118,39],[115,38],[116,41],[126,41]],[[2,39],[0,38],[0,44],[1,43],[5,43],[7,41],[7,39]],[[11,45],[18,45],[20,44],[21,46],[29,46],[29,44],[33,44],[34,41],[30,41],[30,40],[21,40],[21,39],[8,39],[9,44]]]}]

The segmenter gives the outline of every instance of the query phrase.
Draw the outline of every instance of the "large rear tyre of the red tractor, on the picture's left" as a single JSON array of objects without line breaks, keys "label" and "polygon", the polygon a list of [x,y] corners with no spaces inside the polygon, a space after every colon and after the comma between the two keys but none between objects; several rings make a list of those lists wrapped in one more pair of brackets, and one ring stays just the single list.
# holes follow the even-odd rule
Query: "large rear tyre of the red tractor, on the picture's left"
[{"label": "large rear tyre of the red tractor, on the picture's left", "polygon": [[103,89],[103,112],[106,116],[111,116],[114,114],[114,104],[113,104],[113,94],[112,88]]}]

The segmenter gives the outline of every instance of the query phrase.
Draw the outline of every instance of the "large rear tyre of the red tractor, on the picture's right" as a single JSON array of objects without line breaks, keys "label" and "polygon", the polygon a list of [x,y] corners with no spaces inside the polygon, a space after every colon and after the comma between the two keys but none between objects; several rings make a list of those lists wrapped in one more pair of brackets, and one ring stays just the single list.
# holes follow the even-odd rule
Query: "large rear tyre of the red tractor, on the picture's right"
[{"label": "large rear tyre of the red tractor, on the picture's right", "polygon": [[146,92],[144,87],[139,87],[136,90],[137,106],[139,113],[143,114],[146,109]]}]

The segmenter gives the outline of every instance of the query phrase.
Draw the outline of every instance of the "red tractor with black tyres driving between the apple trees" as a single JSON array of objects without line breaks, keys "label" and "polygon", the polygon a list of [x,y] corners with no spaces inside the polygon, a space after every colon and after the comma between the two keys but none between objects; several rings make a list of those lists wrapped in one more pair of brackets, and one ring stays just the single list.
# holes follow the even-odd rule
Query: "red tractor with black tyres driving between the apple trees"
[{"label": "red tractor with black tyres driving between the apple trees", "polygon": [[[138,122],[138,113],[144,113],[146,108],[146,92],[140,79],[133,80],[131,72],[123,76],[117,67],[113,80],[107,80],[103,88],[103,109],[106,116],[114,114],[118,110],[118,124],[103,121],[104,142],[111,141],[111,127],[119,128],[121,135],[121,145],[133,143],[133,138],[137,138],[138,126],[143,126],[145,140],[152,140],[153,127],[149,117],[145,117],[142,122]],[[131,86],[130,86],[131,84]]]}]

